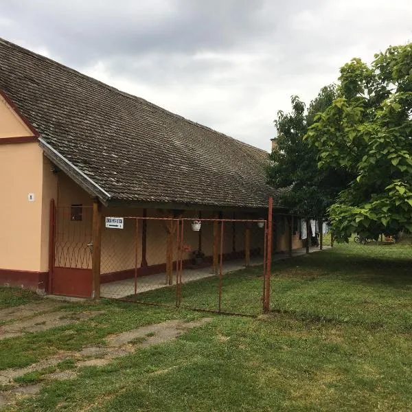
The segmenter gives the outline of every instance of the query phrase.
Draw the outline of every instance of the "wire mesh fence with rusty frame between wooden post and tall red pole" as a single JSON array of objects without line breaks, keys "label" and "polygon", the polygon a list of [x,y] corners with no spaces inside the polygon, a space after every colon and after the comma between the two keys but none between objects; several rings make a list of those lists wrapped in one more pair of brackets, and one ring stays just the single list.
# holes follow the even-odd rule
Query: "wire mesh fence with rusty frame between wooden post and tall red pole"
[{"label": "wire mesh fence with rusty frame between wooden post and tall red pole", "polygon": [[265,233],[264,220],[124,218],[102,231],[100,295],[257,314]]}]

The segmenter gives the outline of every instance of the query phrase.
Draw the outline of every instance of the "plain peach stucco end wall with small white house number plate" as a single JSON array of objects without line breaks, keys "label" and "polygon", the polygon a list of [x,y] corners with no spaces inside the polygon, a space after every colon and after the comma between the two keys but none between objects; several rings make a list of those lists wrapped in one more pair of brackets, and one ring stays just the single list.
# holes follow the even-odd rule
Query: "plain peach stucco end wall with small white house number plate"
[{"label": "plain peach stucco end wall with small white house number plate", "polygon": [[55,196],[50,174],[38,144],[0,145],[0,268],[47,271],[49,199]]}]

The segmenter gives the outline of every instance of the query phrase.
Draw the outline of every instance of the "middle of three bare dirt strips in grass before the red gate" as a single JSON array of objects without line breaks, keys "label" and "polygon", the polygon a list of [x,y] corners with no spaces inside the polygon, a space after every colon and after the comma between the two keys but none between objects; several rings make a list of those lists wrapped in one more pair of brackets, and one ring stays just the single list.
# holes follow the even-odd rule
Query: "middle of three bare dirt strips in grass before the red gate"
[{"label": "middle of three bare dirt strips in grass before the red gate", "polygon": [[49,312],[39,314],[38,316],[30,317],[30,319],[22,319],[14,323],[7,323],[0,327],[0,340],[19,336],[26,332],[41,332],[58,326],[69,325],[82,319],[87,319],[101,312],[80,312],[76,314],[68,314],[62,310],[58,312]]}]

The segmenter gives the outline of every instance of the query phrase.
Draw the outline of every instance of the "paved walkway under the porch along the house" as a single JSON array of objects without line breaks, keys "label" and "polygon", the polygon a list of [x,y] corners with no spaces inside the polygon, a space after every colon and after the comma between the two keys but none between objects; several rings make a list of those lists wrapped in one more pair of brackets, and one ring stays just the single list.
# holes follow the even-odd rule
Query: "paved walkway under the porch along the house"
[{"label": "paved walkway under the porch along the house", "polygon": [[[329,247],[323,247],[323,249],[328,249]],[[317,247],[311,247],[310,253],[319,251]],[[293,257],[304,255],[306,253],[305,248],[295,249],[293,251]],[[272,257],[273,261],[288,259],[287,252],[275,253]],[[263,257],[251,258],[251,266],[258,266],[263,264]],[[234,271],[238,271],[244,268],[244,259],[239,260],[229,260],[223,262],[222,273],[226,275]],[[174,284],[176,284],[176,272],[174,275]],[[211,272],[211,266],[204,268],[187,268],[182,272],[182,283],[194,282],[195,280],[204,279],[205,277],[212,277],[214,273]],[[144,293],[148,290],[155,290],[160,288],[167,288],[168,284],[165,282],[166,274],[157,273],[156,275],[147,275],[137,277],[137,293]],[[102,297],[109,297],[120,299],[122,297],[130,296],[135,293],[135,279],[124,279],[117,282],[109,282],[101,284],[100,295]]]}]

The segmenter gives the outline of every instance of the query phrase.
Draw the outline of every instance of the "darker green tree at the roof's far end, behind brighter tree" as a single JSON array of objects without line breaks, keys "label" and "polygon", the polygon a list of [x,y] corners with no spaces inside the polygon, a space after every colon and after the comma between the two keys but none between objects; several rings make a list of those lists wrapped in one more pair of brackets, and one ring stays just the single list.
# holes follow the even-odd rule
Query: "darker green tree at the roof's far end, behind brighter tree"
[{"label": "darker green tree at the roof's far end, behind brighter tree", "polygon": [[277,112],[277,149],[273,150],[268,167],[268,183],[274,187],[289,187],[282,195],[282,205],[291,214],[299,216],[325,216],[336,195],[345,187],[347,172],[338,168],[318,170],[316,146],[304,140],[308,126],[315,115],[325,110],[336,98],[336,87],[323,87],[317,98],[306,106],[297,96],[291,98],[291,113]]}]

